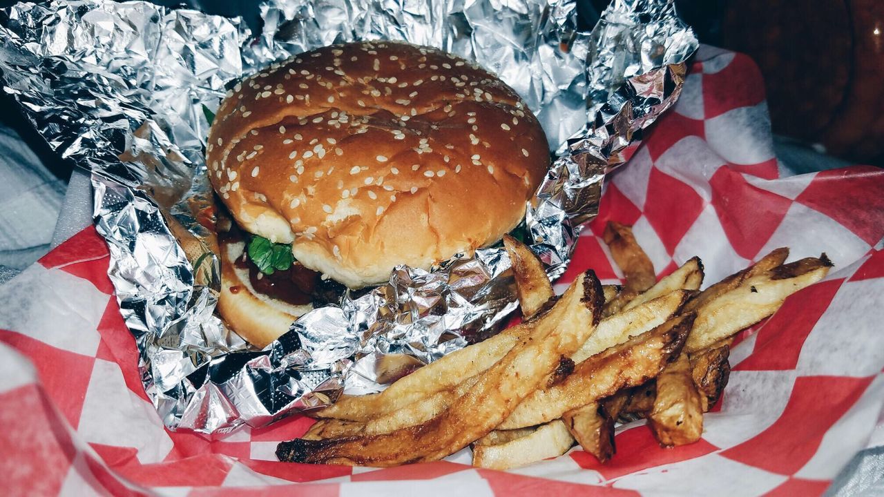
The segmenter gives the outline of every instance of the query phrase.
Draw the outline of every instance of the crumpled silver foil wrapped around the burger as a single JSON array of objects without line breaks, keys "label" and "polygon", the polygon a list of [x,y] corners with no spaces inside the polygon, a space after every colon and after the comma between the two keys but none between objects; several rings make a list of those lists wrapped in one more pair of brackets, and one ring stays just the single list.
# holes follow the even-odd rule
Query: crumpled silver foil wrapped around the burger
[{"label": "crumpled silver foil wrapped around the burger", "polygon": [[697,40],[666,0],[614,0],[591,33],[575,0],[271,0],[262,33],[239,19],[79,0],[0,10],[4,92],[62,157],[93,173],[95,225],[135,336],[141,379],[171,430],[230,432],[316,409],[347,386],[495,333],[514,310],[506,251],[313,310],[263,350],[213,315],[217,256],[193,214],[210,192],[210,112],[245,73],[333,42],[390,39],[452,51],[499,74],[540,119],[558,158],[527,206],[532,248],[555,278],[598,210],[606,172],[677,99]]}]

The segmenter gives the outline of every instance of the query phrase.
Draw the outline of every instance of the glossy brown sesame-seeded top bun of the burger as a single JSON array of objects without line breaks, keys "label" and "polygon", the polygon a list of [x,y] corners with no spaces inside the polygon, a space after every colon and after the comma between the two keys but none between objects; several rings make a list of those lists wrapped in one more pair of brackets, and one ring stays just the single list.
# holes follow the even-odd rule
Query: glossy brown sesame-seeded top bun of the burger
[{"label": "glossy brown sesame-seeded top bun of the burger", "polygon": [[240,226],[348,287],[498,241],[549,167],[512,88],[396,42],[332,45],[243,80],[207,159]]}]

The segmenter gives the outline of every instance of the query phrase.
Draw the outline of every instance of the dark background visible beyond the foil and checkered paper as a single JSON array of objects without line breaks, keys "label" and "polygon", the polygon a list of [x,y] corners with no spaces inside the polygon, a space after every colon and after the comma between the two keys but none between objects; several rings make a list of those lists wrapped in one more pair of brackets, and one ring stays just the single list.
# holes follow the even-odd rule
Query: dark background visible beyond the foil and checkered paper
[{"label": "dark background visible beyond the foil and checkered paper", "polygon": [[[609,0],[578,0],[579,21],[591,29]],[[156,0],[180,5],[180,1]],[[15,4],[0,0],[0,7]],[[257,0],[192,0],[191,6],[242,15],[260,27]],[[778,154],[812,159],[817,152],[851,163],[884,166],[884,1],[676,0],[700,42],[748,53],[766,82]],[[58,158],[0,97],[0,123],[15,129],[66,180]],[[806,149],[806,154],[802,151]],[[782,150],[782,152],[781,152]],[[797,150],[797,152],[796,152]]]}]

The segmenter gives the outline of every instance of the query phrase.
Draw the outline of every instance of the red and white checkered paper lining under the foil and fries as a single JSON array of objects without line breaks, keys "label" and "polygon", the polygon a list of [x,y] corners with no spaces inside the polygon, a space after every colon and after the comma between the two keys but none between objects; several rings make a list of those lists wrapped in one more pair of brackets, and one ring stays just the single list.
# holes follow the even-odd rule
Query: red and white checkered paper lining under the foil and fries
[{"label": "red and white checkered paper lining under the foil and fries", "polygon": [[707,284],[776,247],[831,257],[827,279],[743,333],[696,444],[660,448],[638,423],[619,430],[605,465],[575,448],[508,472],[473,469],[467,451],[373,470],[275,461],[277,442],[301,435],[305,417],[221,440],[167,432],[141,389],[107,248],[89,228],[0,287],[2,486],[13,495],[822,493],[859,450],[884,445],[884,171],[778,176],[758,69],[704,47],[677,106],[614,173],[557,284],[586,268],[618,280],[599,239],[608,219],[634,226],[660,275],[700,256]]}]

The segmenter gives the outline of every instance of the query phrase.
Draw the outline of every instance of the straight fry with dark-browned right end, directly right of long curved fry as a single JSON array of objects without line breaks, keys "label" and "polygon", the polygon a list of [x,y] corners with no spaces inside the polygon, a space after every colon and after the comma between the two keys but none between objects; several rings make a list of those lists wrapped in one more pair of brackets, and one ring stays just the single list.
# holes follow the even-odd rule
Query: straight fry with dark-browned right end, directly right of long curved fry
[{"label": "straight fry with dark-browned right end, directly right of long curved fry", "polygon": [[692,314],[673,317],[648,333],[583,361],[565,381],[530,394],[498,429],[547,423],[571,409],[657,376],[670,358],[680,353],[693,319]]}]

